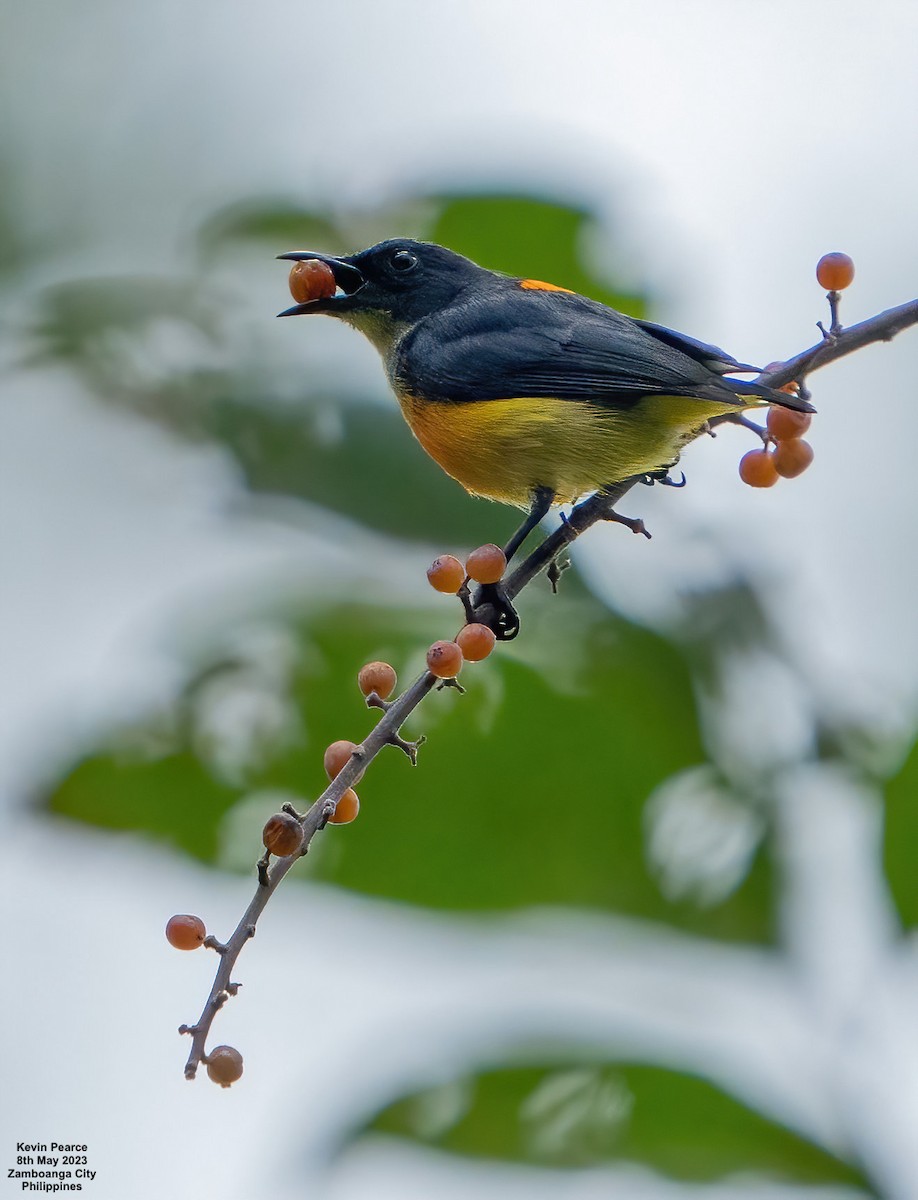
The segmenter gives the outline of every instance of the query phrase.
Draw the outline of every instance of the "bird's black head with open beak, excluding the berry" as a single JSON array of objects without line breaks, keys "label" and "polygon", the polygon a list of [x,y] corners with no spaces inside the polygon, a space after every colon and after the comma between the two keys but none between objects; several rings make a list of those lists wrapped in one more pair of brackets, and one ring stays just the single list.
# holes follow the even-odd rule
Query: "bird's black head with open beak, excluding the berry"
[{"label": "bird's black head with open beak, excluding the berry", "polygon": [[407,238],[380,241],[348,258],[312,251],[278,257],[294,262],[317,258],[331,268],[338,289],[334,296],[294,305],[281,317],[320,312],[356,325],[362,314],[374,313],[392,323],[414,324],[490,274],[444,246]]}]

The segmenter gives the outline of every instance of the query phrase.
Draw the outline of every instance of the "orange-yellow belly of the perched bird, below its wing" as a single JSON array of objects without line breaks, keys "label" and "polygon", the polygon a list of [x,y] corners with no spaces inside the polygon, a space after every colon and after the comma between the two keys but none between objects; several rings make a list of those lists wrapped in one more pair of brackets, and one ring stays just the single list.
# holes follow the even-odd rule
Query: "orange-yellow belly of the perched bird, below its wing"
[{"label": "orange-yellow belly of the perched bird, below its wing", "polygon": [[648,396],[612,410],[570,400],[431,402],[398,397],[427,454],[475,496],[528,508],[536,487],[559,504],[671,466],[703,424],[739,404]]}]

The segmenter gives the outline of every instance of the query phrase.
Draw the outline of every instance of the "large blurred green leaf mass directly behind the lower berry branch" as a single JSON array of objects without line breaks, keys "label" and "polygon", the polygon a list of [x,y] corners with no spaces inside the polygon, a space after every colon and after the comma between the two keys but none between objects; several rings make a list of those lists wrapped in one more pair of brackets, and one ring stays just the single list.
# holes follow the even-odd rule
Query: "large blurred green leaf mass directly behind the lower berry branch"
[{"label": "large blurred green leaf mass directly behind the lower berry branch", "polygon": [[[557,643],[540,668],[499,648],[487,662],[466,667],[468,695],[443,691],[426,702],[413,719],[431,733],[420,767],[412,769],[395,749],[380,755],[360,787],[360,820],[326,830],[306,869],[355,890],[439,908],[578,905],[715,937],[767,940],[763,856],[718,906],[661,895],[647,866],[644,803],[673,773],[703,760],[691,682],[673,646],[576,590],[545,605],[542,619],[551,620]],[[530,607],[532,622],[541,607]],[[384,658],[410,677],[443,620],[458,622],[455,605],[444,602],[443,611],[438,619],[354,606],[314,614],[302,629],[289,695],[306,736],[269,746],[236,799],[253,787],[319,794],[324,746],[359,740],[377,719],[350,682],[356,668]],[[214,860],[230,797],[187,755],[194,720],[192,706],[178,743],[151,761],[118,750],[91,756],[54,792],[52,809],[108,828],[166,833]],[[120,742],[144,738],[134,731]]]}]

